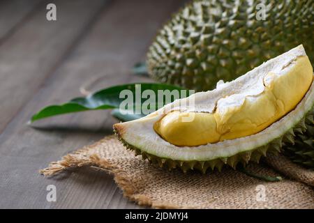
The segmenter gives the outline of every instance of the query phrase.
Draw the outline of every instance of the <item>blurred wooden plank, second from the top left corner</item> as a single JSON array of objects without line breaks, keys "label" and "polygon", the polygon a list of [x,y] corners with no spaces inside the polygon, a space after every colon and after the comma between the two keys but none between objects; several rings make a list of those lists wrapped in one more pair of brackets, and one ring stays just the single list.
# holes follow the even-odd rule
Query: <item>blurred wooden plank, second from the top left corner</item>
[{"label": "blurred wooden plank, second from the top left corner", "polygon": [[48,2],[43,1],[0,45],[0,133],[84,36],[105,4],[105,0],[57,0],[57,21],[47,21]]}]

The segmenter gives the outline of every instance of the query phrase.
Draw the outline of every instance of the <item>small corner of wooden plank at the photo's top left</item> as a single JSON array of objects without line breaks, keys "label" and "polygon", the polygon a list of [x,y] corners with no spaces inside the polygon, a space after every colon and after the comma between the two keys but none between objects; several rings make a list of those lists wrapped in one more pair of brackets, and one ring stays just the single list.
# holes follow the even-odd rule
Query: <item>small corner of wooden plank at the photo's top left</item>
[{"label": "small corner of wooden plank at the photo's top left", "polygon": [[8,38],[18,26],[27,22],[40,0],[0,1],[0,44]]}]

